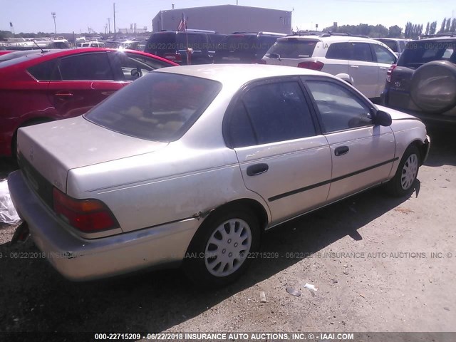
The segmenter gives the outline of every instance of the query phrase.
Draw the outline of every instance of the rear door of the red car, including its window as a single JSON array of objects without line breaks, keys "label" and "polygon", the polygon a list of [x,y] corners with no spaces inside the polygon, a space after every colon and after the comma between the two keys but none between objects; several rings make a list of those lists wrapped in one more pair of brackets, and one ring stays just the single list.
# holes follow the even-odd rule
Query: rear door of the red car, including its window
[{"label": "rear door of the red car, including its window", "polygon": [[48,85],[48,96],[61,118],[86,113],[125,83],[115,76],[105,51],[63,57]]}]

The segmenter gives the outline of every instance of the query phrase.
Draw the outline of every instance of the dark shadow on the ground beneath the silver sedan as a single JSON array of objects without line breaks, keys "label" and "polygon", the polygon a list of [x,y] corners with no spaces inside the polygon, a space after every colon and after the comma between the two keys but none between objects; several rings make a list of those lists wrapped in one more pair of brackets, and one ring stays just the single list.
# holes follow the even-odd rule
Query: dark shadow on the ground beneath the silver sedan
[{"label": "dark shadow on the ground beneath the silver sedan", "polygon": [[358,229],[406,199],[375,188],[281,224],[264,234],[261,247],[278,257],[254,259],[247,274],[217,290],[192,285],[180,270],[71,282],[30,240],[2,244],[0,289],[9,300],[0,309],[1,331],[164,331],[296,264],[303,259],[296,254],[313,254],[346,236],[364,239]]}]

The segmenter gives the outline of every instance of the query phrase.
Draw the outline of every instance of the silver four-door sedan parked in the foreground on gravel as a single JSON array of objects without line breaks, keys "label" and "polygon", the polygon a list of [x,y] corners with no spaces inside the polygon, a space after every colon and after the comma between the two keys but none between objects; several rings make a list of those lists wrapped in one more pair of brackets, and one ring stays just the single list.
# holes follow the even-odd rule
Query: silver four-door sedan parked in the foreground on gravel
[{"label": "silver four-door sedan parked in the foreground on gravel", "polygon": [[375,185],[408,194],[429,146],[420,120],[326,73],[180,66],[83,116],[19,129],[8,182],[68,279],[182,264],[218,286],[265,229]]}]

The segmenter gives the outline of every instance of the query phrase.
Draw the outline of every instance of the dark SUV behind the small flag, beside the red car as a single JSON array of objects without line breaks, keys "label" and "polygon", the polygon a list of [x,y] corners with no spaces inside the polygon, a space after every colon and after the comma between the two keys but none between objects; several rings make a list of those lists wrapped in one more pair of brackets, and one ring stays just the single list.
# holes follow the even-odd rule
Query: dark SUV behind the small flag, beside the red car
[{"label": "dark SUV behind the small flag, beside the red car", "polygon": [[215,49],[224,37],[215,31],[187,29],[187,31],[160,31],[152,33],[144,51],[187,65],[187,48],[192,48],[191,64],[214,61]]}]

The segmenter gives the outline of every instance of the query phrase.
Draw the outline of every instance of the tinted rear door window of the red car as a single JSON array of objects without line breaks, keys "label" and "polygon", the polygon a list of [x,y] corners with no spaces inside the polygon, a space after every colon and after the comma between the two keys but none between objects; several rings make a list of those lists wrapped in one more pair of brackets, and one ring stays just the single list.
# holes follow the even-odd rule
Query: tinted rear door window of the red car
[{"label": "tinted rear door window of the red car", "polygon": [[83,53],[62,58],[58,69],[63,81],[114,79],[105,52]]}]

